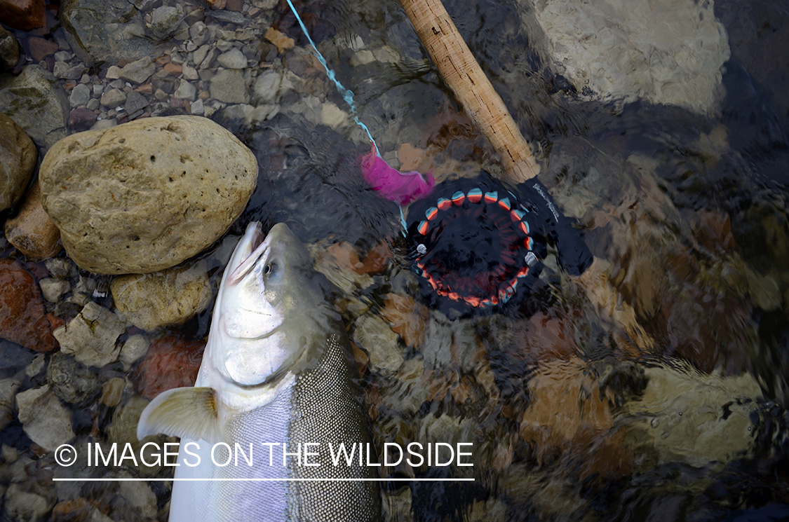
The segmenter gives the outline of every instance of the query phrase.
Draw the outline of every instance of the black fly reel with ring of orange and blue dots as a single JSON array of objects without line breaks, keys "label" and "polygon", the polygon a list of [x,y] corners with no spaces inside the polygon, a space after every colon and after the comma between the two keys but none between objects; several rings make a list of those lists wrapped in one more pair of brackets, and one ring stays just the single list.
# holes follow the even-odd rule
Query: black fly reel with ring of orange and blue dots
[{"label": "black fly reel with ring of orange and blue dots", "polygon": [[442,183],[408,210],[406,243],[423,300],[451,315],[495,311],[516,293],[528,296],[548,240],[570,251],[570,274],[591,264],[578,230],[536,180],[510,189],[483,171]]}]

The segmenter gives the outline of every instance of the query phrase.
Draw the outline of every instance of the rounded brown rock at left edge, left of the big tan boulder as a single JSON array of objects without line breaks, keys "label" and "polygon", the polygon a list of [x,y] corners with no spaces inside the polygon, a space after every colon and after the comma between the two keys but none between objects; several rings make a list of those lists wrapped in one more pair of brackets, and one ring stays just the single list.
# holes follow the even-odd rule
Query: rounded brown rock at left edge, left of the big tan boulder
[{"label": "rounded brown rock at left edge, left of the big tan boulder", "polygon": [[36,169],[36,145],[6,114],[0,113],[0,211],[17,203]]}]

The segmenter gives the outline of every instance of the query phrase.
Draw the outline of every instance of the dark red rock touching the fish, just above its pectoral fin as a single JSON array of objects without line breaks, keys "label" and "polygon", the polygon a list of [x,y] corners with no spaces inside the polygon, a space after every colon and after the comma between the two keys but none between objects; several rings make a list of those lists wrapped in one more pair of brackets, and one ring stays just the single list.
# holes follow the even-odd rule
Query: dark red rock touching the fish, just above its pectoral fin
[{"label": "dark red rock touching the fish, just above its pectoral fin", "polygon": [[151,343],[140,364],[137,390],[152,399],[171,388],[194,386],[205,341],[160,337]]}]

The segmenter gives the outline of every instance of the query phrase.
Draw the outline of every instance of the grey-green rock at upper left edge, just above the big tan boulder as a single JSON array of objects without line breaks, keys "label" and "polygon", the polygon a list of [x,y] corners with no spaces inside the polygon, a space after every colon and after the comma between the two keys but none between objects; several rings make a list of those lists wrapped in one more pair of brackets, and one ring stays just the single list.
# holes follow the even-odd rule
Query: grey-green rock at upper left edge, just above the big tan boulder
[{"label": "grey-green rock at upper left edge, just above the big tan boulder", "polygon": [[39,65],[27,65],[19,76],[0,76],[0,107],[43,149],[66,136],[69,121],[69,100],[54,82]]}]

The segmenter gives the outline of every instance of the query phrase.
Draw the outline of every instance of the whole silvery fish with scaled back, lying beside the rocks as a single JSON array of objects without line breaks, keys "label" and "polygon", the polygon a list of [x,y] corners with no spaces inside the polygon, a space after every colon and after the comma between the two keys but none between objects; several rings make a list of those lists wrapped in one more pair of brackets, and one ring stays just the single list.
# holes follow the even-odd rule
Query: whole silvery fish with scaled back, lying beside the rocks
[{"label": "whole silvery fish with scaled back, lying beside the rocks", "polygon": [[[346,333],[304,245],[285,225],[262,236],[252,223],[228,263],[195,386],[160,394],[140,417],[140,438],[181,437],[170,522],[379,520],[376,482],[304,480],[377,468],[331,463],[329,444],[371,441]],[[302,455],[283,466],[282,443]]]}]

